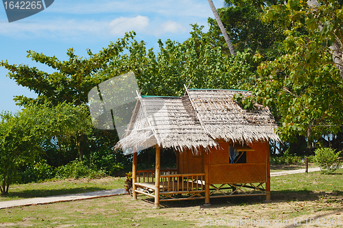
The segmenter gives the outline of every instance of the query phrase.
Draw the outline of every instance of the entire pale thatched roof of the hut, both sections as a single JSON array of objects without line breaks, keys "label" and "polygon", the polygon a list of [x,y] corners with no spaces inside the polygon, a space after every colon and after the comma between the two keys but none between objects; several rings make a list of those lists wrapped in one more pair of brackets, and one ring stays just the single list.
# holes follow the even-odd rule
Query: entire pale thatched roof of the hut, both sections
[{"label": "entire pale thatched roof of the hut, both sections", "polygon": [[279,140],[268,107],[244,110],[233,95],[242,90],[187,90],[184,97],[139,96],[126,137],[116,148],[147,148],[158,144],[177,151],[215,147],[216,140],[244,144]]}]

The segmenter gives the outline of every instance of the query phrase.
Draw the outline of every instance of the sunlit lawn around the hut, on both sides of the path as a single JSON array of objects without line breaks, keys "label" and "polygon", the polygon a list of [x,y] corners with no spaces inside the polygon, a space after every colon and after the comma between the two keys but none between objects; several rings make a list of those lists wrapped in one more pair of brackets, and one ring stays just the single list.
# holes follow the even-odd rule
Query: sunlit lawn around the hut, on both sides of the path
[{"label": "sunlit lawn around the hut, on both sides of the path", "polygon": [[[52,182],[31,184],[30,188],[38,192],[45,188],[60,191],[61,186],[69,190],[82,185],[97,190],[116,185],[122,188],[123,179],[66,180],[55,182],[60,187],[51,186]],[[270,203],[265,203],[264,197],[233,197],[211,199],[209,207],[202,205],[203,200],[163,202],[156,210],[150,197],[140,196],[133,201],[130,195],[121,195],[0,210],[0,227],[202,227],[205,222],[205,227],[222,227],[219,223],[237,227],[228,223],[239,219],[255,221],[255,227],[271,227],[259,224],[262,219],[271,223],[289,221],[291,225],[296,221],[301,224],[296,227],[321,227],[320,223],[306,226],[311,218],[314,222],[324,219],[326,227],[335,227],[331,220],[343,221],[343,170],[335,175],[315,172],[272,177],[271,183]],[[238,227],[251,227],[250,223]]]}]

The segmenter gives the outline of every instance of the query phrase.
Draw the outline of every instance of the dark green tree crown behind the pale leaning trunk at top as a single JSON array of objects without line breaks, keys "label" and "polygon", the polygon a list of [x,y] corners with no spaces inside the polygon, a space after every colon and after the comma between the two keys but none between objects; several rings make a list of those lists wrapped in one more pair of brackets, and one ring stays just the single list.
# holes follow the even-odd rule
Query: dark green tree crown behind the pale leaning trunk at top
[{"label": "dark green tree crown behind the pale leaning trunk at top", "polygon": [[[283,53],[283,30],[272,23],[261,21],[261,5],[273,5],[277,1],[226,0],[225,3],[226,7],[218,9],[218,14],[236,51],[251,49],[253,53],[260,53],[267,60],[274,60]],[[208,21],[211,42],[224,48],[217,23],[213,18]]]}]

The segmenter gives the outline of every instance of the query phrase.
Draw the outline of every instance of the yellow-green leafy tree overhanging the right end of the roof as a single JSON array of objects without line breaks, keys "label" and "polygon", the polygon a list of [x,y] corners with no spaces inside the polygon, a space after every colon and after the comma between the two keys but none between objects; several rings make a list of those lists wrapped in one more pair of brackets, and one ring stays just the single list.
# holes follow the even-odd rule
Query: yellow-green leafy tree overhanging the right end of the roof
[{"label": "yellow-green leafy tree overhanging the right end of the roof", "polygon": [[[341,20],[339,11],[337,2],[317,10],[303,1],[265,8],[263,20],[285,29],[287,54],[258,66],[255,85],[247,85],[256,97],[243,102],[246,107],[268,105],[280,122],[281,139],[292,142],[305,136],[309,152],[329,134],[342,147],[343,79],[329,48],[341,31],[335,24],[335,18]],[[325,21],[321,30],[320,21]]]}]

